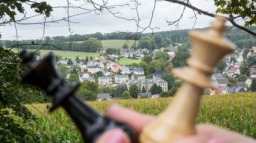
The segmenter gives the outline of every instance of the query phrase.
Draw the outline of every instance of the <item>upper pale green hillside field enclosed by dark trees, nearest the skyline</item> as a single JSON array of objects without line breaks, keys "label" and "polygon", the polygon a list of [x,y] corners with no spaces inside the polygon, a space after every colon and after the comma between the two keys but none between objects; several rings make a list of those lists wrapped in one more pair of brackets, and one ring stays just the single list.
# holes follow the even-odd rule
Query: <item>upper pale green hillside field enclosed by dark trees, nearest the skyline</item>
[{"label": "upper pale green hillside field enclosed by dark trees, nearest the skyline", "polygon": [[[101,40],[103,47],[105,48],[117,48],[117,49],[123,49],[123,45],[124,43],[128,44],[128,47],[130,48],[132,46],[132,44],[134,43],[135,40]],[[83,42],[83,41],[77,41],[79,43]],[[136,42],[136,45],[138,45],[138,42]]]}]

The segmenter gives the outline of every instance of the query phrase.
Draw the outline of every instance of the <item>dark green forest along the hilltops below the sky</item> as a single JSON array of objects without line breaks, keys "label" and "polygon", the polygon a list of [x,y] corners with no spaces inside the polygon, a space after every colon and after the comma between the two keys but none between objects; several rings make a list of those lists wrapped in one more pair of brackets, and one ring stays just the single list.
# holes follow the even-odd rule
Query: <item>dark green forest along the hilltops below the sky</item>
[{"label": "dark green forest along the hilltops below the sky", "polygon": [[[209,27],[195,29],[195,30],[205,30]],[[231,27],[229,27],[231,28]],[[256,31],[256,26],[250,26],[248,29]],[[161,31],[153,33],[138,33],[137,37],[132,36],[131,33],[122,32],[112,32],[112,33],[92,33],[92,34],[74,34],[65,36],[55,36],[55,37],[45,37],[44,40],[39,42],[40,44],[45,44],[42,49],[55,49],[56,47],[61,48],[66,51],[79,51],[79,52],[96,52],[102,47],[100,40],[110,40],[110,39],[121,39],[121,40],[139,40],[138,48],[148,48],[150,50],[160,49],[161,47],[166,47],[170,45],[175,45],[175,43],[183,43],[182,47],[190,48],[190,38],[188,35],[189,29],[185,30],[172,30],[172,31]],[[248,34],[247,32],[238,29],[231,28],[227,33],[224,33],[227,39],[233,42],[238,48],[251,48],[256,45],[256,37]],[[38,49],[41,45],[33,45],[31,42],[36,43],[36,39],[32,40],[22,40],[19,44],[30,44],[22,45],[23,48],[28,49]],[[76,41],[84,41],[78,43]],[[175,42],[175,43],[174,43]],[[12,47],[17,42],[15,40],[0,40],[0,46]],[[51,46],[54,45],[54,46]],[[137,46],[132,46],[129,48],[137,48]]]}]

